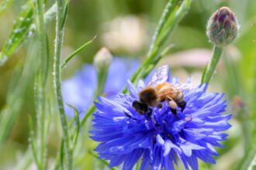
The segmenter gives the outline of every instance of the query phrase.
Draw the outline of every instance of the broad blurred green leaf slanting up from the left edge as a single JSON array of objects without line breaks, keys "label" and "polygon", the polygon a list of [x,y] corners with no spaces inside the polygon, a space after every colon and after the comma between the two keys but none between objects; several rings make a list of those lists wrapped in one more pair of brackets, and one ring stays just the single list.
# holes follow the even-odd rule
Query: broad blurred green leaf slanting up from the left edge
[{"label": "broad blurred green leaf slanting up from the left edge", "polygon": [[[36,62],[35,52],[38,50],[38,43],[32,39],[29,43],[29,53],[26,56],[26,62],[20,72],[15,72],[13,80],[11,80],[10,88],[6,97],[6,107],[2,110],[0,119],[0,146],[6,141],[9,136],[12,126],[20,113],[22,102],[25,99],[25,94],[29,84],[33,82],[36,71],[39,68],[39,63]],[[33,42],[33,43],[32,43]],[[19,67],[19,65],[18,65]],[[17,73],[17,75],[16,75]]]}]

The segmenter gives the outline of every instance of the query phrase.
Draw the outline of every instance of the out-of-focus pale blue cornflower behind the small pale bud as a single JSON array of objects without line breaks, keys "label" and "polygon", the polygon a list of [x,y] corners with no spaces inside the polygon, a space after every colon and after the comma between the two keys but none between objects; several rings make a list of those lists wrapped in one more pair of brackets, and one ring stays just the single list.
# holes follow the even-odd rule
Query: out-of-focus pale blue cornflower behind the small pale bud
[{"label": "out-of-focus pale blue cornflower behind the small pale bud", "polygon": [[[126,80],[132,75],[139,66],[135,59],[117,58],[112,60],[109,66],[109,73],[106,79],[104,93],[106,97],[113,97],[119,93],[126,84]],[[85,64],[81,70],[78,70],[74,76],[62,83],[62,93],[64,102],[77,107],[78,112],[85,113],[93,102],[95,93],[95,84],[97,84],[95,66]],[[65,105],[67,115],[73,116],[74,110]]]}]

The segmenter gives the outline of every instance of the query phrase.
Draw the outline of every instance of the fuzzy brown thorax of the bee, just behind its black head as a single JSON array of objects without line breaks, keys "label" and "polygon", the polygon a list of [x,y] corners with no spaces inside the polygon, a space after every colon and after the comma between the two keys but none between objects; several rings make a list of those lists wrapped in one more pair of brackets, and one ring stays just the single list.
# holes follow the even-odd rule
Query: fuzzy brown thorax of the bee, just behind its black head
[{"label": "fuzzy brown thorax of the bee, just behind its black head", "polygon": [[154,87],[145,87],[139,93],[140,102],[150,106],[157,106],[157,92]]}]

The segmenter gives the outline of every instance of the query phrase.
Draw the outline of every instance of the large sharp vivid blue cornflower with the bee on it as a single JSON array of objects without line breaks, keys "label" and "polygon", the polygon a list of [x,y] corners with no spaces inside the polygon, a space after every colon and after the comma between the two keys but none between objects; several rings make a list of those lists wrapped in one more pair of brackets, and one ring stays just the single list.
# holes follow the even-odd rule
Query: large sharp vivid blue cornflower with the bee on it
[{"label": "large sharp vivid blue cornflower with the bee on it", "polygon": [[[168,69],[161,79],[157,82],[179,87],[191,84],[190,78],[185,83],[171,78]],[[123,163],[127,170],[133,169],[140,158],[141,170],[171,170],[178,159],[185,169],[190,166],[193,170],[199,168],[197,158],[215,163],[213,156],[218,153],[214,147],[224,147],[219,141],[226,140],[227,134],[220,131],[231,127],[227,123],[231,115],[221,114],[226,107],[223,93],[206,93],[206,86],[184,88],[186,107],[183,112],[178,108],[177,115],[172,114],[167,102],[161,108],[151,107],[150,116],[137,113],[132,104],[146,87],[142,80],[137,87],[128,81],[130,94],[119,93],[112,100],[99,97],[91,131],[91,138],[100,142],[95,148],[99,158],[109,160],[111,167]]]}]

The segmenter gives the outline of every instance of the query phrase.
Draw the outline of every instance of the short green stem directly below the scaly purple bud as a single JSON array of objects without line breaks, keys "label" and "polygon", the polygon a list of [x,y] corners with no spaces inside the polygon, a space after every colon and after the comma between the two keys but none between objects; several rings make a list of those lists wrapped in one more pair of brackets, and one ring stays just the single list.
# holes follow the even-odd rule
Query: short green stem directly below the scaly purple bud
[{"label": "short green stem directly below the scaly purple bud", "polygon": [[208,63],[208,65],[206,66],[204,72],[202,73],[201,84],[209,83],[209,81],[211,80],[213,73],[216,70],[216,66],[219,63],[222,52],[223,52],[223,49],[220,46],[213,47],[212,59],[210,63]]}]

